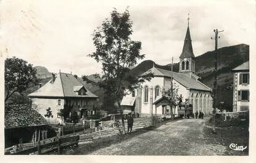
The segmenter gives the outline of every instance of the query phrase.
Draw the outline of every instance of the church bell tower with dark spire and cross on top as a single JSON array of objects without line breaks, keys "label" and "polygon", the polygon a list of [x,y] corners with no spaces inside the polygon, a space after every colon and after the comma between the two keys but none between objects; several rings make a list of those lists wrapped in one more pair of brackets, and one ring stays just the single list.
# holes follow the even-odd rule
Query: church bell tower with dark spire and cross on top
[{"label": "church bell tower with dark spire and cross on top", "polygon": [[187,18],[187,33],[184,40],[181,56],[179,56],[179,73],[195,73],[195,55],[192,47],[192,40],[189,31],[189,18]]}]

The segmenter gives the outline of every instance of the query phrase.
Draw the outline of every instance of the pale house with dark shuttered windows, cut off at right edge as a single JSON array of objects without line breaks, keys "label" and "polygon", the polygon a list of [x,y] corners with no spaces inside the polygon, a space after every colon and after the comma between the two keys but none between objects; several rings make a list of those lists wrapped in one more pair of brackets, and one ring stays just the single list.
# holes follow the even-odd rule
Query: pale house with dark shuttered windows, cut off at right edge
[{"label": "pale house with dark shuttered windows, cut off at right edge", "polygon": [[233,70],[233,111],[249,111],[249,61]]}]

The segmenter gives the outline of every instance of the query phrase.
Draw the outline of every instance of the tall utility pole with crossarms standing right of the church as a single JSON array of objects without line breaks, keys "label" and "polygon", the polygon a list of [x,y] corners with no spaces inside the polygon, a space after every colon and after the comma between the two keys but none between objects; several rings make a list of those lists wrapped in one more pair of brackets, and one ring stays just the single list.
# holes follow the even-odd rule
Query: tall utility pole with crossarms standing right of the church
[{"label": "tall utility pole with crossarms standing right of the church", "polygon": [[[218,31],[218,29],[213,30],[215,33],[215,70],[214,70],[214,82],[213,82],[213,133],[216,133],[215,130],[215,115],[216,115],[216,109],[217,109],[217,87],[218,87],[218,78],[217,78],[217,72],[218,72],[218,39],[220,36],[218,36],[218,33],[223,32]],[[213,38],[211,38],[213,39]]]}]

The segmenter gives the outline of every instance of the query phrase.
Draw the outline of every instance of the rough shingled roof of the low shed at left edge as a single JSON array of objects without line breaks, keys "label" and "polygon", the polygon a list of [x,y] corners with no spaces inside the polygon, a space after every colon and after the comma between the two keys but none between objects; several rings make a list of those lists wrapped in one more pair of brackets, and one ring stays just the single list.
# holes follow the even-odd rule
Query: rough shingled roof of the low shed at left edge
[{"label": "rough shingled roof of the low shed at left edge", "polygon": [[36,125],[48,125],[46,119],[31,107],[20,105],[8,106],[4,111],[4,127],[32,127]]}]

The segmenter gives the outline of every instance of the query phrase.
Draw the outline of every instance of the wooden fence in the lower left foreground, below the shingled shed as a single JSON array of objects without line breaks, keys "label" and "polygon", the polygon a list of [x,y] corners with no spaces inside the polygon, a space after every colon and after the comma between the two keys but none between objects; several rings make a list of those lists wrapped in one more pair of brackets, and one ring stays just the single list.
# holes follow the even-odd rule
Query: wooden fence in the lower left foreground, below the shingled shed
[{"label": "wooden fence in the lower left foreground, below the shingled shed", "polygon": [[[35,143],[25,143],[23,145],[16,145],[12,148],[8,148],[5,150],[5,154],[14,154],[14,155],[22,155],[22,154],[46,154],[54,150],[58,150],[58,154],[61,149],[65,146],[78,145],[79,143],[79,135],[78,134],[70,134],[64,135],[62,137],[53,137],[46,140],[37,141]],[[19,148],[22,146],[22,148]]]}]

